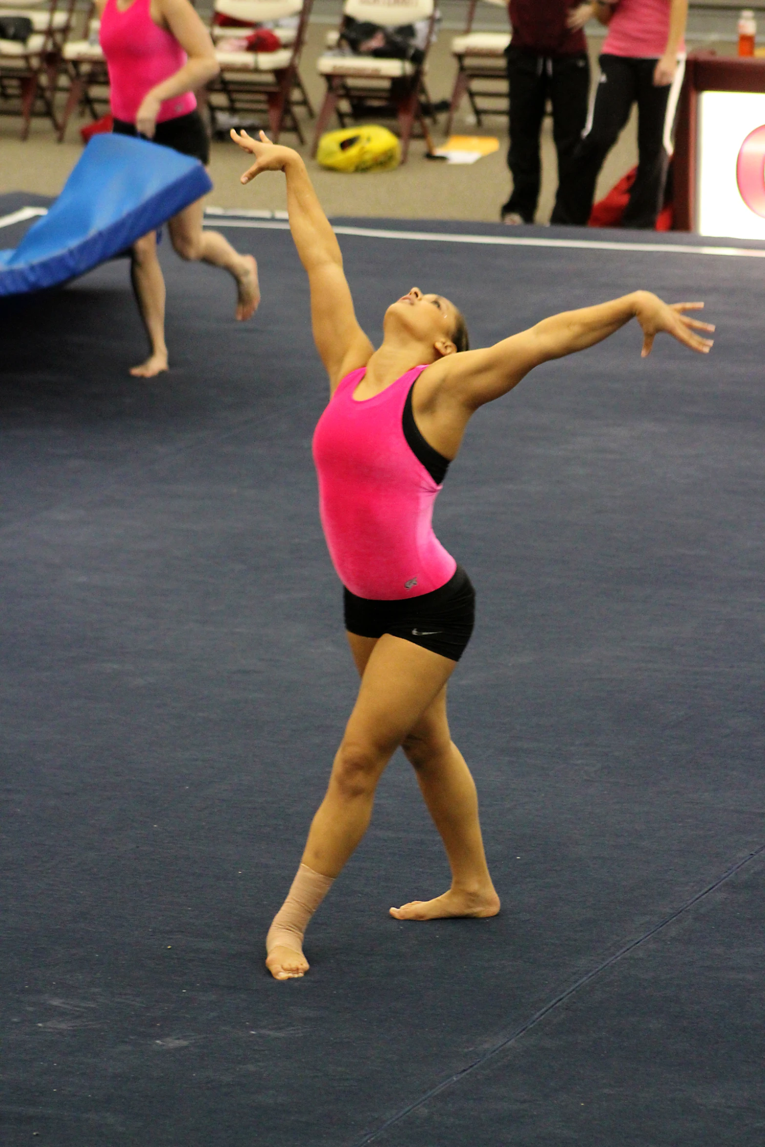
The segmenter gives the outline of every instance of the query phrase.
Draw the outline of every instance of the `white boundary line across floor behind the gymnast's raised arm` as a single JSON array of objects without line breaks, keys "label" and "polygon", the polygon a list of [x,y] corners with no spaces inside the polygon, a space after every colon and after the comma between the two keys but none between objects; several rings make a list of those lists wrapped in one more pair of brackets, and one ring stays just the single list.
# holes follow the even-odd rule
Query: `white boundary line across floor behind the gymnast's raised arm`
[{"label": "white boundary line across floor behind the gymnast's raised arm", "polygon": [[[331,221],[331,220],[330,220]],[[266,231],[288,231],[281,219],[233,219],[228,216],[205,216],[205,225],[214,227],[260,227]],[[377,227],[334,227],[336,235],[358,235],[361,239],[419,240],[428,243],[483,243],[489,247],[557,247],[584,251],[650,251],[664,255],[725,255],[765,259],[765,249],[751,247],[693,247],[689,243],[624,243],[600,239],[544,239],[521,235],[452,235],[437,231],[383,231]]]}]

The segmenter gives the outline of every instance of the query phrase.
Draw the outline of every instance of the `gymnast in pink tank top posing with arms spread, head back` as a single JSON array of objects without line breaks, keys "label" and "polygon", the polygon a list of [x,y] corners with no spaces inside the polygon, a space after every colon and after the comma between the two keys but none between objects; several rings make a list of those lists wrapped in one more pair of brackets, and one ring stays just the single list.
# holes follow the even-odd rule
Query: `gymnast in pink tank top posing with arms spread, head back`
[{"label": "gymnast in pink tank top posing with arms spread, head back", "polygon": [[642,353],[664,330],[702,353],[713,328],[648,291],[538,322],[485,350],[468,350],[462,315],[413,287],[385,312],[374,349],[359,327],[335,234],[300,156],[260,133],[233,138],[256,156],[242,175],[283,171],[292,239],[311,288],[313,335],[330,400],[313,440],[329,552],[344,585],[345,627],[361,678],[290,892],[266,938],[276,980],[302,976],[312,914],[364,836],[377,781],[399,747],[414,766],[452,871],[448,891],[391,908],[397,920],[493,916],[492,884],[473,777],[452,743],[446,682],[473,627],[469,578],[436,539],[432,505],[468,420],[540,362],[593,346],[631,319]]}]

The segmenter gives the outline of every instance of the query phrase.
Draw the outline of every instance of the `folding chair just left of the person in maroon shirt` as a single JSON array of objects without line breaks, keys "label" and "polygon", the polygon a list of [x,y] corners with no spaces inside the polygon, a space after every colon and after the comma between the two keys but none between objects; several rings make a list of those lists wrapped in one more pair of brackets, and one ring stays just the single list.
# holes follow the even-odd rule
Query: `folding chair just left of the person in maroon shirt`
[{"label": "folding chair just left of the person in maroon shirt", "polygon": [[[492,7],[505,9],[505,0],[483,0]],[[465,32],[452,40],[452,55],[456,60],[456,78],[446,123],[446,134],[451,134],[454,115],[467,95],[476,123],[482,115],[508,114],[507,61],[505,50],[510,42],[507,32],[474,32],[478,0],[470,0]],[[490,101],[479,103],[479,100]],[[501,101],[501,109],[498,108]]]}]

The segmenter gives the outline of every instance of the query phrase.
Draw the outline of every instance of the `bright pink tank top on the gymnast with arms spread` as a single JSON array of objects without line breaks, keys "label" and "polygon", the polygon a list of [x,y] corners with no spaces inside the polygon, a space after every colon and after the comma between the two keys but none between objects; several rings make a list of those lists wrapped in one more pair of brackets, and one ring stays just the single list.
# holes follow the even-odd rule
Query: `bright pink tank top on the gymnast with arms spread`
[{"label": "bright pink tank top on the gymnast with arms spread", "polygon": [[442,489],[412,452],[401,426],[415,366],[356,401],[366,367],[346,374],[319,419],[313,459],[321,524],[337,576],[377,601],[417,598],[446,585],[456,562],[432,531]]}]

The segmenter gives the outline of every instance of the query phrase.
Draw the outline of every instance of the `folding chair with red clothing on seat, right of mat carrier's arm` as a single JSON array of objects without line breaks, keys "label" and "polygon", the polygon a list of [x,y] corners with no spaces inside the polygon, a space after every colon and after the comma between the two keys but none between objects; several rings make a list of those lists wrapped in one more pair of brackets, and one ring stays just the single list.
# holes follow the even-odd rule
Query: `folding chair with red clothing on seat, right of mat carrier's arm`
[{"label": "folding chair with red clothing on seat, right of mat carrier's arm", "polygon": [[[216,0],[216,11],[229,18],[247,19],[247,24],[220,28],[213,25],[218,46],[216,55],[220,72],[208,84],[205,100],[213,131],[220,131],[224,116],[247,117],[266,111],[274,142],[282,131],[303,132],[295,115],[304,107],[310,116],[313,108],[298,71],[312,0]],[[297,26],[286,22],[297,19]],[[270,28],[281,40],[275,52],[229,52],[220,46],[224,39],[245,34],[253,28]]]}]

